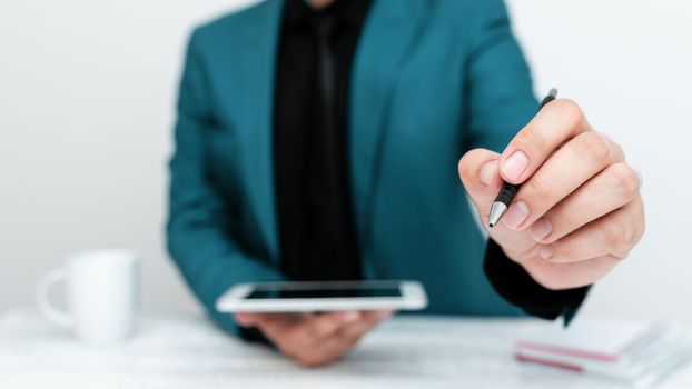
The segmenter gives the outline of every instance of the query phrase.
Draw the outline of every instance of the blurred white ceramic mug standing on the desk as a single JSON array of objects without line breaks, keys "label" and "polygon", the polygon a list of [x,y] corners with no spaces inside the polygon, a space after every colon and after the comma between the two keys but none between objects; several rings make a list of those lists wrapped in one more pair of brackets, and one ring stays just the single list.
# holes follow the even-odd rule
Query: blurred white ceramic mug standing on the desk
[{"label": "blurred white ceramic mug standing on the desk", "polygon": [[[67,259],[38,283],[36,301],[46,318],[90,342],[113,342],[134,329],[139,300],[139,257],[129,250],[87,251]],[[68,312],[48,300],[50,287],[67,282]]]}]

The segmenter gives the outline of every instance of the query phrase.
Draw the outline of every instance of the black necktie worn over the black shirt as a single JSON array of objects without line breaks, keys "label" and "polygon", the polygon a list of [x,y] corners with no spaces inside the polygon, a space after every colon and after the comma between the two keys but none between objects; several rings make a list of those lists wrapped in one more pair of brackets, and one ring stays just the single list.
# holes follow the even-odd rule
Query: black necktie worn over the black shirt
[{"label": "black necktie worn over the black shirt", "polygon": [[336,60],[333,38],[334,16],[325,12],[310,20],[317,43],[315,132],[309,133],[309,152],[316,156],[308,171],[308,250],[297,278],[317,280],[359,279],[360,263],[349,231],[350,209],[345,201],[347,190],[339,169],[345,161],[346,140],[339,132]]}]

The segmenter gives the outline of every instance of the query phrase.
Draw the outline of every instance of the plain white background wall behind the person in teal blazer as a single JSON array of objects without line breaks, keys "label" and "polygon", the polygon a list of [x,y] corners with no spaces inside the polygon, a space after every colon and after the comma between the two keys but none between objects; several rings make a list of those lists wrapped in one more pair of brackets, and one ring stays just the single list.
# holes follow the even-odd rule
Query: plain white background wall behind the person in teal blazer
[{"label": "plain white background wall behind the person in teal blazer", "polygon": [[[144,310],[196,311],[164,249],[191,27],[251,1],[0,2],[0,310],[73,251],[145,258]],[[511,0],[536,93],[558,87],[644,179],[647,231],[584,316],[692,323],[692,2]]]}]

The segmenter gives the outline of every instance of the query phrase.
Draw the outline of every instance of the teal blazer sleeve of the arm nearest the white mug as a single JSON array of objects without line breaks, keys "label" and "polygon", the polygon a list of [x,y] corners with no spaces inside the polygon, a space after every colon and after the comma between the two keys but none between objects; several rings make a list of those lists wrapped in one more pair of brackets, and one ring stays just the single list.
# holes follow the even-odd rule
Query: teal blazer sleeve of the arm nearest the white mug
[{"label": "teal blazer sleeve of the arm nearest the white mug", "polygon": [[208,174],[204,133],[212,116],[197,32],[187,49],[170,160],[167,243],[170,256],[207,312],[224,329],[243,335],[216,299],[238,282],[280,280],[266,261],[248,256],[234,237],[234,217]]}]

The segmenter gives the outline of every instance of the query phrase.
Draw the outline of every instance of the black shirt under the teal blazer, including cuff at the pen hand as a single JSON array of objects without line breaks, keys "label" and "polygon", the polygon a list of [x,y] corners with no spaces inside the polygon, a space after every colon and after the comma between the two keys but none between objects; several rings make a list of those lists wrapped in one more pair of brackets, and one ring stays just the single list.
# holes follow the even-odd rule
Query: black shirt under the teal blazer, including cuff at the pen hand
[{"label": "black shirt under the teal blazer, including cuff at the pen hand", "polygon": [[[305,0],[287,0],[284,9],[276,63],[274,168],[283,270],[293,279],[359,276],[360,258],[349,199],[347,119],[350,68],[369,3],[369,0],[336,0],[325,9],[313,10]],[[310,24],[325,16],[337,22],[332,49],[337,59],[338,126],[330,152],[320,149],[324,139],[316,126],[317,44]],[[315,180],[332,180],[332,186],[339,190],[325,196],[319,184],[313,184]],[[324,223],[337,225],[338,233],[325,233]],[[342,257],[335,260],[338,256]],[[312,272],[310,269],[318,267],[316,261],[327,260],[350,261],[352,267],[337,268],[327,276]],[[492,240],[484,269],[503,298],[543,318],[565,315],[569,319],[587,291],[587,288],[562,291],[543,288]],[[319,271],[324,272],[324,266]]]}]

